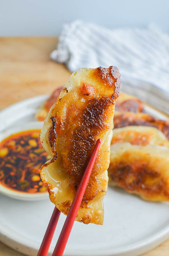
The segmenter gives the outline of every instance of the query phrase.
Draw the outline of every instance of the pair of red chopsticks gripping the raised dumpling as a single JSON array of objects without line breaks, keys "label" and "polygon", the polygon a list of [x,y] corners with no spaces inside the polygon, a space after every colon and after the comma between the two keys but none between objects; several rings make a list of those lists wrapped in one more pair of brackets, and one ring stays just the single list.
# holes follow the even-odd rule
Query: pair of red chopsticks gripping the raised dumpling
[{"label": "pair of red chopsticks gripping the raised dumpling", "polygon": [[[90,160],[86,166],[83,177],[78,186],[75,198],[73,199],[72,205],[70,207],[69,213],[64,222],[62,231],[57,240],[57,243],[56,243],[56,246],[55,246],[52,256],[62,256],[63,255],[65,246],[66,246],[67,241],[70,236],[71,229],[73,227],[74,221],[77,216],[77,212],[79,210],[80,204],[81,204],[83,196],[85,194],[85,190],[86,190],[86,187],[87,187],[87,184],[88,184],[88,181],[89,181],[92,169],[93,169],[93,165],[95,163],[96,156],[99,151],[100,143],[101,143],[101,139],[98,139],[96,142],[96,145],[93,149],[92,156],[90,157]],[[57,226],[57,222],[59,220],[60,213],[61,212],[55,207],[55,209],[52,213],[51,219],[49,221],[48,228],[46,230],[46,233],[45,233],[42,243],[40,245],[40,249],[39,249],[37,256],[46,256],[48,254],[48,250],[49,250],[53,235],[55,233],[55,228]]]}]

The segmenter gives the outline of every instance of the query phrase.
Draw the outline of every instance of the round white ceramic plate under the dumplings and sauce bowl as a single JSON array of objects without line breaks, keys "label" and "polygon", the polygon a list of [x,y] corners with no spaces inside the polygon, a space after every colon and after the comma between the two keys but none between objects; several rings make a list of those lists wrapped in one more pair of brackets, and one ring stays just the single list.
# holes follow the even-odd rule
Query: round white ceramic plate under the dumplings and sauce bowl
[{"label": "round white ceramic plate under the dumplings and sauce bowl", "polygon": [[[135,84],[136,86],[139,83]],[[131,85],[132,86],[132,85]],[[140,84],[139,86],[143,86]],[[123,91],[139,96],[129,84]],[[136,88],[136,87],[135,87]],[[141,99],[159,98],[150,85]],[[152,87],[153,88],[153,87]],[[143,91],[143,90],[142,90]],[[150,94],[150,95],[148,95]],[[23,122],[34,121],[34,114],[47,95],[18,102],[0,113],[0,132]],[[140,97],[139,97],[140,98]],[[165,108],[166,94],[160,91],[160,106]],[[155,107],[158,107],[155,105]],[[169,109],[169,108],[168,108]],[[163,109],[165,110],[165,109]],[[158,118],[163,114],[146,107],[146,111]],[[104,199],[103,226],[75,222],[64,255],[66,256],[135,256],[150,250],[169,237],[169,204],[150,203],[129,195],[119,188],[108,188]],[[22,202],[0,195],[0,240],[10,247],[33,256],[37,254],[47,228],[54,204],[49,199],[39,202]],[[65,216],[61,214],[49,249],[52,254]]]}]

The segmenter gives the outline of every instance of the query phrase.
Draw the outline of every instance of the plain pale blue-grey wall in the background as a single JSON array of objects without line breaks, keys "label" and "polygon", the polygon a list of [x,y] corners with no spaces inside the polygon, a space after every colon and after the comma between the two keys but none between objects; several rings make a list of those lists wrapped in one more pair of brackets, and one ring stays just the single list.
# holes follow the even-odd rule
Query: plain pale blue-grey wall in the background
[{"label": "plain pale blue-grey wall in the background", "polygon": [[107,28],[153,22],[169,32],[169,0],[0,0],[0,36],[58,35],[75,19]]}]

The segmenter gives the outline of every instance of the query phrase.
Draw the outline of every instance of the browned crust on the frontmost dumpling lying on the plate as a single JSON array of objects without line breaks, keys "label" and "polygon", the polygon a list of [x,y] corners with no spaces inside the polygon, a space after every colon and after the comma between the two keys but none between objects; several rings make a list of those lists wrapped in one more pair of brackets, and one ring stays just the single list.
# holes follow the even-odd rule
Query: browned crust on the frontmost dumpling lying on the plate
[{"label": "browned crust on the frontmost dumpling lying on the plate", "polygon": [[[123,157],[127,158],[128,152]],[[133,157],[133,162],[111,162],[109,177],[129,193],[138,194],[145,200],[168,201],[169,188],[167,181],[159,172],[150,169],[148,159]]]}]

